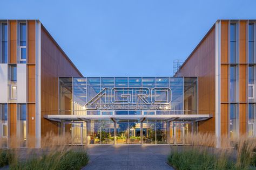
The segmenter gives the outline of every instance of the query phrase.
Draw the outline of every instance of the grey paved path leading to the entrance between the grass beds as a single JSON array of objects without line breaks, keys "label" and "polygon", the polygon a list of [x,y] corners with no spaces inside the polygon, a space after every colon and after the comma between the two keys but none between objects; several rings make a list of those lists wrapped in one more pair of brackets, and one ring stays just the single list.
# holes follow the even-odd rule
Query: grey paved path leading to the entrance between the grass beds
[{"label": "grey paved path leading to the entrance between the grass beds", "polygon": [[90,145],[83,169],[172,169],[166,164],[169,145]]}]

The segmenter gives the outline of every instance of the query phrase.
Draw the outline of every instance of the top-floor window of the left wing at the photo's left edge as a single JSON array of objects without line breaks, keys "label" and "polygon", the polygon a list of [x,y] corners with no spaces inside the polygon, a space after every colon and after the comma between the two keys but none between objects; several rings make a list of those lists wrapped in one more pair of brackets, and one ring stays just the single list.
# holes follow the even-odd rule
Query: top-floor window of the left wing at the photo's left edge
[{"label": "top-floor window of the left wing at the photo's left edge", "polygon": [[1,49],[2,49],[2,52],[1,52],[1,61],[0,63],[7,63],[7,23],[2,23],[2,36],[1,36]]}]

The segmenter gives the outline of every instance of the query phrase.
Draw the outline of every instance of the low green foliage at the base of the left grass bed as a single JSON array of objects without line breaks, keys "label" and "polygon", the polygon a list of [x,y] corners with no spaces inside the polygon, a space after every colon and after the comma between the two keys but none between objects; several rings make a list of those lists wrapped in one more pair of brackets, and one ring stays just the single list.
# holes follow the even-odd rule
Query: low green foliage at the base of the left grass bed
[{"label": "low green foliage at the base of the left grass bed", "polygon": [[11,164],[10,169],[80,169],[89,161],[85,151],[63,151]]}]

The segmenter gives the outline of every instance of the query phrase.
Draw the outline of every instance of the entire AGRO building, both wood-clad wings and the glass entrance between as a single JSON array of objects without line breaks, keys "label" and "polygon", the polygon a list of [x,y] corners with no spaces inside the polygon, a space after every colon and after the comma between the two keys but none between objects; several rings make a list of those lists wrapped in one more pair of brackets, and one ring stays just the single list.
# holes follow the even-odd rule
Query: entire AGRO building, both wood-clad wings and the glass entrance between
[{"label": "entire AGRO building, both wood-clad wings and the glass entrance between", "polygon": [[255,137],[254,20],[218,20],[173,77],[83,77],[38,20],[0,20],[0,147]]}]

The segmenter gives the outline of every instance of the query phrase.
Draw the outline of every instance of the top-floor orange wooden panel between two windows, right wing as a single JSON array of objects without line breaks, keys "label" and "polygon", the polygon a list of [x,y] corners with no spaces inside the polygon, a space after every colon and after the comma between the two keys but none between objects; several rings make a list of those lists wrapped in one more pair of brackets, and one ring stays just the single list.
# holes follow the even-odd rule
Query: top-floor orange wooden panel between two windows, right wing
[{"label": "top-floor orange wooden panel between two windows, right wing", "polygon": [[246,63],[247,57],[247,26],[246,21],[240,20],[239,22],[239,62]]}]

